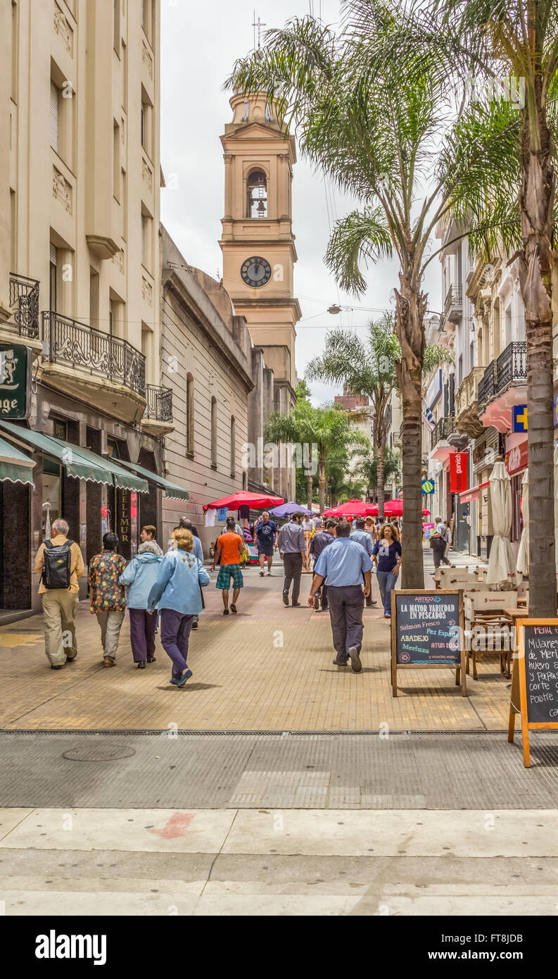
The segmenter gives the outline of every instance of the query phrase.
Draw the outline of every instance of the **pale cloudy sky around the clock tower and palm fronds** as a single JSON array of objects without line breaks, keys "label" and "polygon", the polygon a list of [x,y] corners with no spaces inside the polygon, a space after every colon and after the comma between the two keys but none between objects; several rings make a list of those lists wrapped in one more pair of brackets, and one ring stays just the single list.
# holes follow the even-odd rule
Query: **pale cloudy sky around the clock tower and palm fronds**
[{"label": "pale cloudy sky around the clock tower and palm fronds", "polygon": [[[279,27],[291,17],[313,9],[330,25],[339,22],[338,0],[260,0],[256,20]],[[161,193],[161,220],[187,260],[221,278],[218,240],[224,207],[224,163],[219,136],[232,118],[223,83],[236,58],[253,46],[254,0],[161,0],[161,163],[173,189]],[[266,28],[264,28],[265,30]],[[171,179],[172,178],[172,179]],[[356,329],[362,336],[372,310],[393,305],[397,263],[382,262],[367,272],[364,298],[340,293],[323,265],[330,223],[351,210],[352,202],[331,186],[298,155],[293,180],[293,230],[298,262],[295,296],[302,309],[298,324],[296,367],[320,353],[327,332],[335,326]],[[426,282],[429,305],[440,309],[440,266],[435,259]],[[327,313],[331,303],[351,306],[341,316]],[[339,389],[311,386],[315,403],[331,399]]]}]

